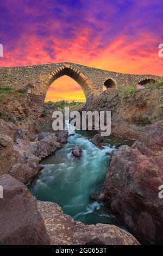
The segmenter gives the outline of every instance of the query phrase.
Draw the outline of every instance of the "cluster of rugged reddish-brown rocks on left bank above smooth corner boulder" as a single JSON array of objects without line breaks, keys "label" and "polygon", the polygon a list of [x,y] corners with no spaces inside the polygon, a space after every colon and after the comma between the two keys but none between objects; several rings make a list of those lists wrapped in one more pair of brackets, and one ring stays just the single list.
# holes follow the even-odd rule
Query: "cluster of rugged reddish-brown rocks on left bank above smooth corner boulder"
[{"label": "cluster of rugged reddish-brown rocks on left bank above smooth corner boulder", "polygon": [[0,175],[9,174],[28,185],[43,168],[40,160],[60,147],[54,133],[32,135],[0,120]]}]

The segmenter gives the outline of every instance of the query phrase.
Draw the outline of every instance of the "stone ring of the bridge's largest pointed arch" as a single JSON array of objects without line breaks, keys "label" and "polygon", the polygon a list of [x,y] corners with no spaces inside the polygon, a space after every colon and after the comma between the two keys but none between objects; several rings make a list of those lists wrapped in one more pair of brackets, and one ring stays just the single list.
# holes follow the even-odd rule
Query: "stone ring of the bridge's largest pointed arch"
[{"label": "stone ring of the bridge's largest pointed arch", "polygon": [[48,78],[45,80],[45,89],[43,94],[46,96],[47,90],[51,84],[57,80],[61,76],[69,76],[74,81],[76,81],[80,87],[83,89],[84,95],[86,100],[89,99],[93,92],[93,84],[89,81],[89,79],[77,69],[75,66],[72,65],[62,65],[56,68],[51,74],[48,75]]}]

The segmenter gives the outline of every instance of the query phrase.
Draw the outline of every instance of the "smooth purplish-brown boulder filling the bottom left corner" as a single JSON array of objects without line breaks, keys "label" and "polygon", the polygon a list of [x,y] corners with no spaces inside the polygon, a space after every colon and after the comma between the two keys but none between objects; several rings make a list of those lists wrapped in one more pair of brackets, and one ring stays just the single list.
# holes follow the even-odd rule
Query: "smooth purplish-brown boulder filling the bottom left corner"
[{"label": "smooth purplish-brown boulder filling the bottom left corner", "polygon": [[37,201],[28,188],[10,175],[0,176],[1,245],[48,245],[49,236],[37,210]]}]

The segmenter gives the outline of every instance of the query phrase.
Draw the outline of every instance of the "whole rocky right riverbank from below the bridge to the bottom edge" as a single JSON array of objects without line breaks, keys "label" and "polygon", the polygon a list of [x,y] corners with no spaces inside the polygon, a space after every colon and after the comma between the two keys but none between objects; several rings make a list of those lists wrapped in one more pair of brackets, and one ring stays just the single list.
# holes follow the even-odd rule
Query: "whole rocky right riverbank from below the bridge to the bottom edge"
[{"label": "whole rocky right riverbank from below the bridge to the bottom edge", "polygon": [[111,134],[135,139],[111,154],[101,193],[121,222],[143,243],[162,244],[163,88],[120,92],[108,89],[87,110],[111,111]]}]

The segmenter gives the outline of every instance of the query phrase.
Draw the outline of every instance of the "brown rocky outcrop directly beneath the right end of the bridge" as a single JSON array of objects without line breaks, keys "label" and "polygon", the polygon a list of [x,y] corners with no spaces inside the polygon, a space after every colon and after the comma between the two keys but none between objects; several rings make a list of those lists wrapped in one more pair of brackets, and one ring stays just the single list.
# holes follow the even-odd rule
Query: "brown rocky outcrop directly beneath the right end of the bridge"
[{"label": "brown rocky outcrop directly beneath the right end of the bridge", "polygon": [[111,135],[141,141],[139,137],[147,132],[146,125],[163,119],[162,92],[161,87],[130,93],[110,88],[92,97],[84,110],[111,111]]}]

